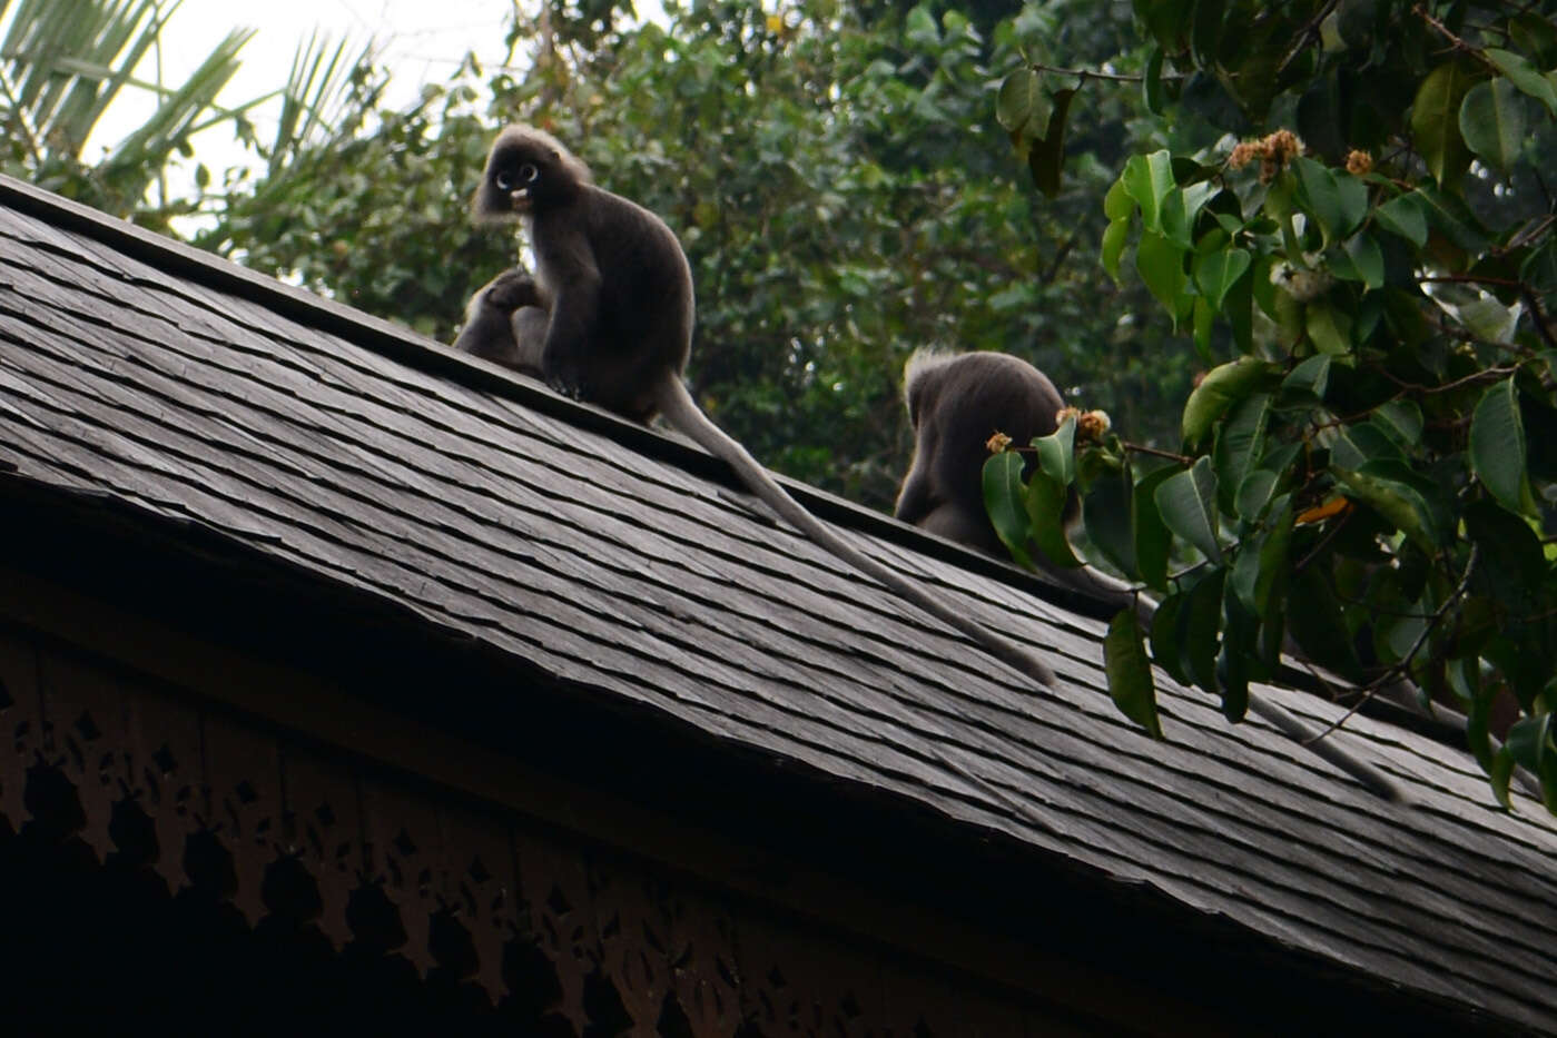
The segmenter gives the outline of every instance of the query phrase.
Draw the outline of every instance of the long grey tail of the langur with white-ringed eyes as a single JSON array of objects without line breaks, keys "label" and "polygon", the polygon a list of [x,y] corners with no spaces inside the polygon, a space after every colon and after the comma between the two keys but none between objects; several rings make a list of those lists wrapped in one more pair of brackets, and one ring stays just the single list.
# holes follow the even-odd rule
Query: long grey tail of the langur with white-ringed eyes
[{"label": "long grey tail of the langur with white-ringed eyes", "polygon": [[698,408],[691,394],[687,392],[680,378],[673,375],[666,380],[666,386],[665,391],[660,392],[659,403],[660,414],[665,416],[665,420],[670,422],[673,428],[698,440],[698,444],[702,445],[702,448],[710,454],[727,461],[752,493],[766,501],[768,507],[777,512],[780,518],[803,532],[819,546],[833,552],[838,559],[847,562],[866,576],[873,577],[902,598],[906,598],[914,605],[919,605],[931,616],[950,624],[956,630],[961,630],[1017,672],[1031,677],[1039,685],[1054,685],[1054,671],[1051,671],[1049,666],[1034,652],[1001,638],[984,624],[958,613],[933,598],[919,584],[914,584],[912,580],[887,570],[880,562],[849,546],[842,538],[833,534],[833,531],[822,526],[814,515],[807,512],[799,501],[791,498],[783,487],[774,482],[772,476],[769,476],[768,472],[757,464],[744,447],[730,439],[724,430],[708,420],[708,416]]}]

